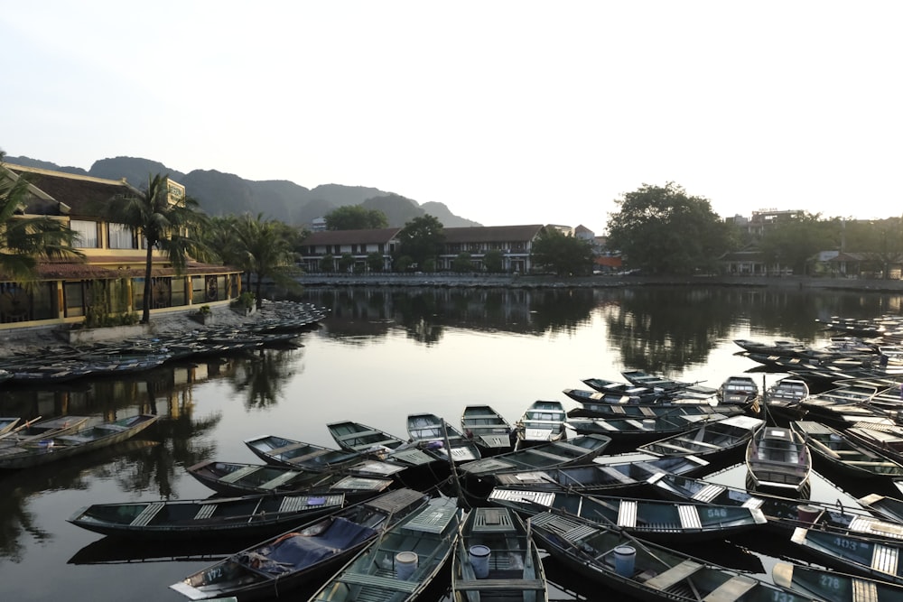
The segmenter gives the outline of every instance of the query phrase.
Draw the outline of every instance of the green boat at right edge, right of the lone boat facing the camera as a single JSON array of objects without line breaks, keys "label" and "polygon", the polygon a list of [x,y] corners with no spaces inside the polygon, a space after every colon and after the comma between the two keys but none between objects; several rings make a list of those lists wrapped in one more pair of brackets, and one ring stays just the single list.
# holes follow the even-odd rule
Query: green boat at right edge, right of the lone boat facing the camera
[{"label": "green boat at right edge, right of the lone boat facing the camera", "polygon": [[903,464],[849,440],[841,431],[821,422],[794,421],[790,428],[805,440],[809,450],[826,467],[848,477],[903,478]]}]

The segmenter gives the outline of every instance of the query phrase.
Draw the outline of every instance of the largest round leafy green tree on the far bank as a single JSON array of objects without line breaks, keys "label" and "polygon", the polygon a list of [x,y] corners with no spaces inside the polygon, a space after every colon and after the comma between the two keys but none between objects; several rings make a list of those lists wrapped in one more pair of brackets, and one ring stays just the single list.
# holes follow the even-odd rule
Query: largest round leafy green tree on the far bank
[{"label": "largest round leafy green tree on the far bank", "polygon": [[609,214],[608,246],[631,267],[653,273],[709,272],[736,241],[708,199],[687,195],[674,182],[643,184],[616,199]]}]

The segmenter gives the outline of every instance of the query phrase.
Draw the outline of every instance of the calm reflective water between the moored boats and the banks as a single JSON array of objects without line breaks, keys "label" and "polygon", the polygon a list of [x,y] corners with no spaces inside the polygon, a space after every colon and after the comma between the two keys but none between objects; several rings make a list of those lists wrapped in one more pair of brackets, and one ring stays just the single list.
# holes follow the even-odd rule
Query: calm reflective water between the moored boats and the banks
[{"label": "calm reflective water between the moored boats and the banks", "polygon": [[[242,442],[250,437],[334,446],[325,424],[340,420],[405,436],[408,413],[458,424],[469,403],[489,403],[515,421],[536,399],[571,408],[564,388],[586,388],[581,379],[589,377],[619,380],[628,368],[715,386],[755,367],[734,355],[735,338],[820,345],[828,335],[816,318],[901,310],[899,295],[761,289],[347,289],[309,291],[305,300],[332,314],[303,334],[303,347],[0,393],[3,416],[161,416],[142,441],[0,475],[0,600],[184,599],[167,586],[231,550],[110,544],[66,518],[95,503],[207,497],[184,468],[209,458],[255,462]],[[817,477],[813,489],[828,501],[842,495]],[[738,568],[768,570],[768,558],[732,552]],[[554,588],[553,597],[591,598],[556,563],[548,570],[566,590]]]}]

